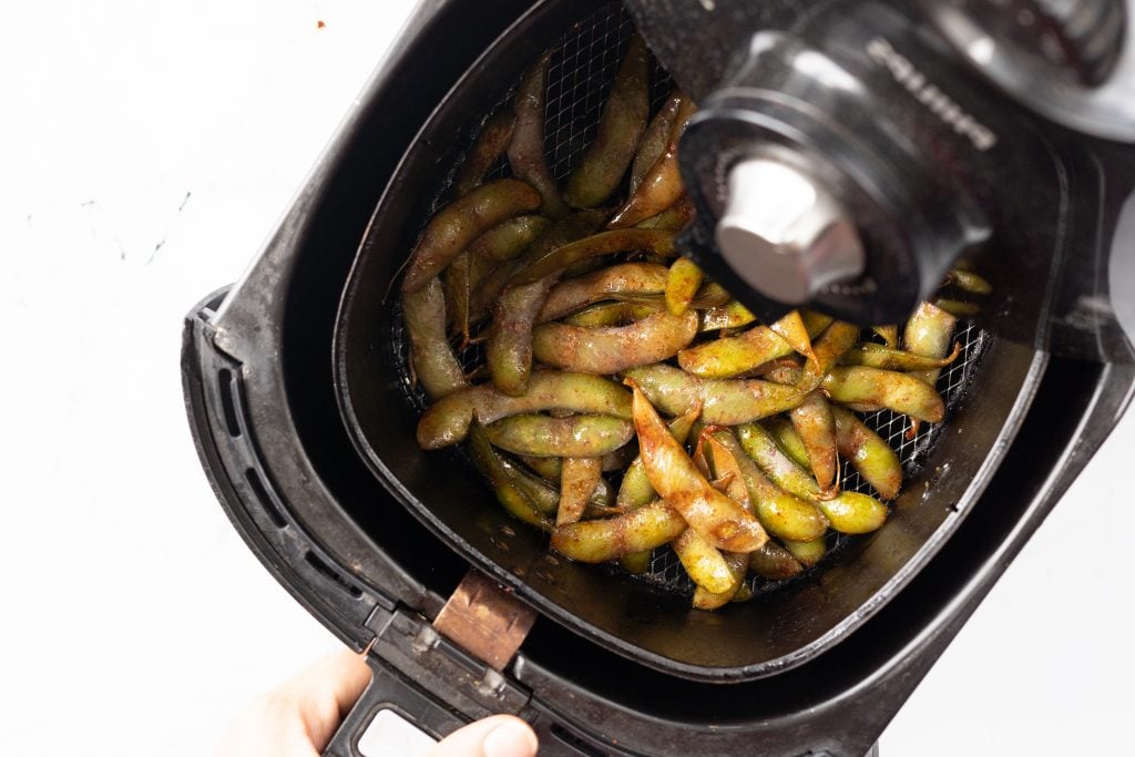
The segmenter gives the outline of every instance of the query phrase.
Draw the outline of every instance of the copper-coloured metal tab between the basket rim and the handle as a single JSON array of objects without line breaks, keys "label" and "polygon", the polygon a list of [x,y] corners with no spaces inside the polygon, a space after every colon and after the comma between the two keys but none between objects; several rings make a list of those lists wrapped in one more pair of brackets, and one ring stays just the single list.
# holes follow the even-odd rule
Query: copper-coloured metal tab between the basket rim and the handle
[{"label": "copper-coloured metal tab between the basket rim and the handle", "polygon": [[476,569],[461,580],[434,628],[494,670],[503,670],[536,622],[536,612]]}]

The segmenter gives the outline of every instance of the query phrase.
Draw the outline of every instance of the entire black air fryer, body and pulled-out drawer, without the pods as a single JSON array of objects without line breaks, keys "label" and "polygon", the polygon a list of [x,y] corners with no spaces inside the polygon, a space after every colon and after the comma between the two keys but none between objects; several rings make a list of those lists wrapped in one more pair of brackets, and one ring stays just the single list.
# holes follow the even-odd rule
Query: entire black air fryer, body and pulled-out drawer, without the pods
[{"label": "entire black air fryer, body and pulled-out drawer, without the pods", "polygon": [[[1135,385],[1129,294],[1119,289],[1132,286],[1123,276],[1130,149],[1113,133],[1074,132],[1015,102],[952,52],[933,14],[807,5],[812,12],[678,0],[630,10],[597,1],[420,7],[249,274],[187,318],[186,405],[222,506],[272,574],[368,650],[375,670],[328,754],[360,754],[360,734],[382,710],[438,737],[513,712],[550,755],[864,754],[1118,420]],[[982,3],[957,5],[968,12]],[[871,163],[871,150],[850,154],[847,135],[781,128],[781,150],[806,142],[809,160],[852,174],[843,207],[859,208],[851,195],[873,186],[864,166],[886,173],[908,159],[918,159],[911,176],[920,183],[900,199],[915,210],[936,202],[905,222],[860,227],[865,268],[809,285],[809,304],[872,322],[926,296],[959,255],[989,276],[1001,304],[956,336],[962,355],[939,384],[943,424],[906,440],[901,417],[871,417],[907,473],[883,529],[841,538],[805,578],[757,583],[754,600],[718,613],[690,609],[690,586],[665,550],[645,577],[557,558],[545,536],[501,511],[460,454],[419,449],[422,398],[397,300],[387,296],[484,119],[507,107],[546,49],[546,154],[557,178],[570,171],[594,137],[634,19],[657,58],[655,104],[675,79],[703,104],[683,141],[683,177],[701,187],[691,190],[699,212],[686,244],[762,313],[798,303],[753,289],[734,270],[746,251],[723,254],[713,226],[731,197],[703,178],[728,173],[723,154],[765,154],[768,129],[789,120],[768,102],[814,90],[773,65],[751,66],[753,56],[781,50],[799,61],[812,50],[839,62],[855,40],[883,39],[911,65],[940,72],[951,102],[1018,148],[967,152],[972,133],[920,111],[885,61],[873,74],[857,69],[871,60],[858,49],[844,68],[872,102],[890,103],[876,108],[878,124],[917,136],[878,148],[886,132],[875,124],[852,145],[883,153]],[[764,41],[750,44],[754,35]],[[713,52],[699,62],[695,49]],[[1123,58],[1104,62],[1111,70]],[[738,84],[757,74],[771,83]],[[738,92],[758,92],[759,102]],[[1027,196],[1004,190],[1020,176],[1035,190]],[[905,207],[894,194],[888,212]],[[894,233],[882,239],[880,228]],[[886,297],[864,294],[872,277]],[[535,613],[504,661],[478,658],[434,625],[471,569],[502,612]]]}]

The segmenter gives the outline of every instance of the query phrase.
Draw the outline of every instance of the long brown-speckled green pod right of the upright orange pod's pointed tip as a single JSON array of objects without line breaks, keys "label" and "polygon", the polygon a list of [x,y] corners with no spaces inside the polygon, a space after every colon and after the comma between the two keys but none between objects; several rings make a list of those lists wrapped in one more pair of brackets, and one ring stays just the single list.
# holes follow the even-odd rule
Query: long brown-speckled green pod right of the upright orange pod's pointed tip
[{"label": "long brown-speckled green pod right of the upright orange pod's pointed tip", "polygon": [[655,364],[624,372],[650,402],[670,415],[701,405],[708,424],[735,426],[791,410],[804,399],[796,387],[759,379],[701,379],[673,365]]}]

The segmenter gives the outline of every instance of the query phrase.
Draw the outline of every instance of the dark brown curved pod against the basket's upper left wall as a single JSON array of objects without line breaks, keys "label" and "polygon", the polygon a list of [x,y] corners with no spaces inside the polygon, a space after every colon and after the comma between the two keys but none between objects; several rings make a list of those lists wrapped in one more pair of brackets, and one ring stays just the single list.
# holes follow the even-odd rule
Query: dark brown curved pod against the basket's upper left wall
[{"label": "dark brown curved pod against the basket's upper left wall", "polygon": [[540,194],[516,179],[502,178],[477,187],[443,208],[414,246],[402,279],[403,294],[426,286],[469,243],[506,218],[535,210]]}]

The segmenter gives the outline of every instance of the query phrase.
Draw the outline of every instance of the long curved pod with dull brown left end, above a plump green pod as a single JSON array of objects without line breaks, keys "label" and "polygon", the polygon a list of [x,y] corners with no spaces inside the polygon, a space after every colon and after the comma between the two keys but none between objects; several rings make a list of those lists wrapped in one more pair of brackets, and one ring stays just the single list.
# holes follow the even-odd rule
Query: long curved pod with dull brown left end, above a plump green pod
[{"label": "long curved pod with dull brown left end, above a plump green pod", "polygon": [[456,444],[465,438],[473,418],[493,423],[508,415],[553,409],[631,418],[630,395],[614,381],[589,373],[537,371],[521,396],[485,384],[440,398],[418,420],[418,444],[422,449]]}]

